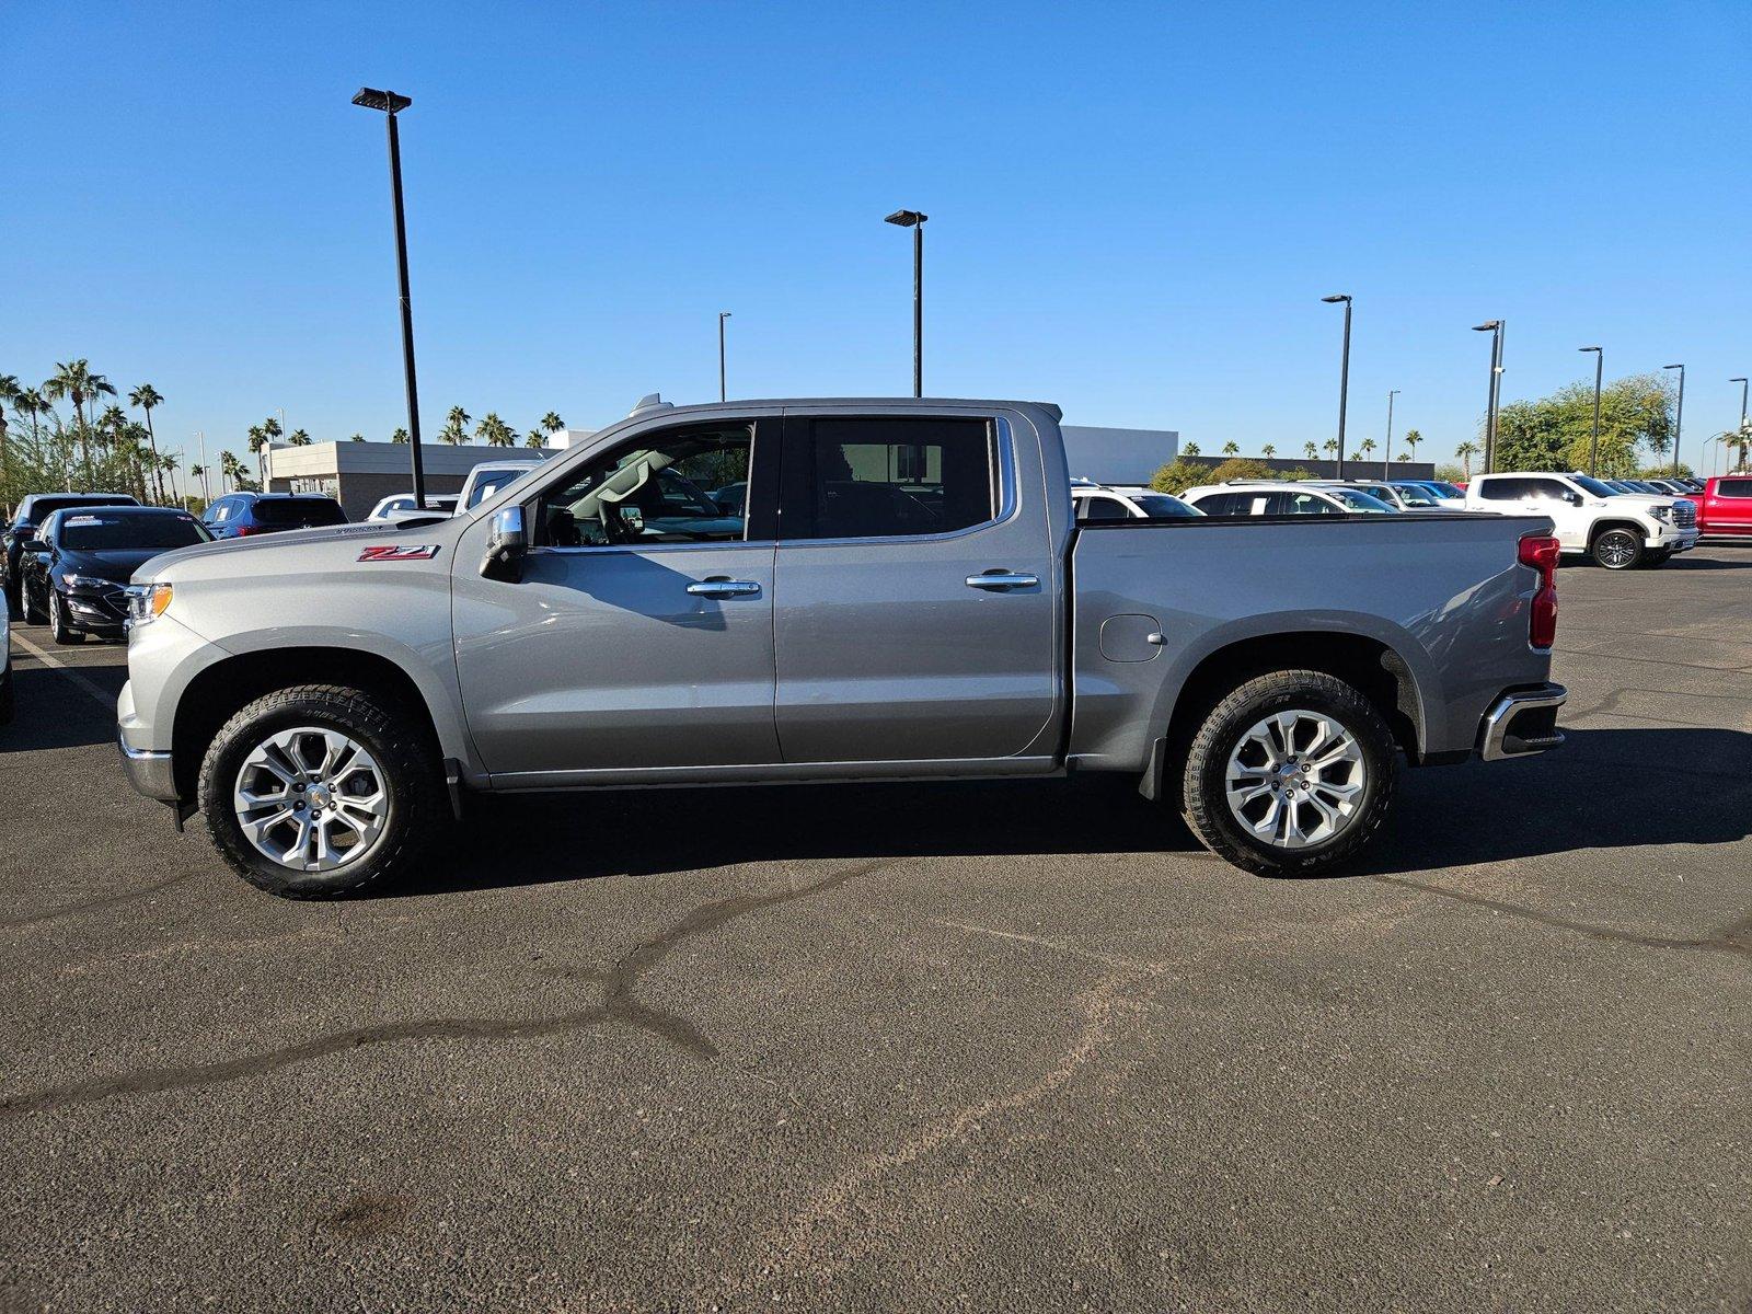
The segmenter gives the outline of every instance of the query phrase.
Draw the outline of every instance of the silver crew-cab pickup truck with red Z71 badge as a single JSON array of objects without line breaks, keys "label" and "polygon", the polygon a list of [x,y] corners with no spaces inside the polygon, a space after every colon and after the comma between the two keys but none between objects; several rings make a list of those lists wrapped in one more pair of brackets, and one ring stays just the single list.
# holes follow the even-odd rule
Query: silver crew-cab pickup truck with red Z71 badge
[{"label": "silver crew-cab pickup truck with red Z71 badge", "polygon": [[641,405],[456,519],[158,557],[121,753],[289,897],[473,792],[1120,771],[1253,872],[1381,829],[1400,755],[1561,743],[1544,517],[1077,527],[1058,408]]}]

